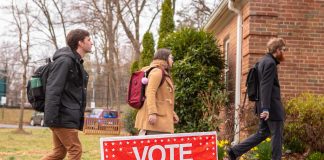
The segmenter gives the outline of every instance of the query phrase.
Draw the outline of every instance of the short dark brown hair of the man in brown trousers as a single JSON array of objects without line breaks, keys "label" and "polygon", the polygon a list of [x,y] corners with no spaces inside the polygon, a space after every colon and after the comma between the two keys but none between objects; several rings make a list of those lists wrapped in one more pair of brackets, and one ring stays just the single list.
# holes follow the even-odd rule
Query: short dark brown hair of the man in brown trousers
[{"label": "short dark brown hair of the man in brown trousers", "polygon": [[86,37],[89,37],[88,31],[83,29],[71,30],[66,36],[66,44],[73,50],[78,49],[79,41],[83,41]]}]

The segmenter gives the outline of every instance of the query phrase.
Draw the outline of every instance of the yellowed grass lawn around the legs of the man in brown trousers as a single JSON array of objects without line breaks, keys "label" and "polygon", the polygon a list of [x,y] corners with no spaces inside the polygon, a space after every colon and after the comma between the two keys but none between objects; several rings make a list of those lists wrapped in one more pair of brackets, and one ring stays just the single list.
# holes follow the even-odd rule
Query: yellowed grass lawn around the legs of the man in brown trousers
[{"label": "yellowed grass lawn around the legs of the man in brown trousers", "polygon": [[[15,129],[0,129],[0,160],[36,160],[51,151],[50,129],[25,129],[31,134],[15,134]],[[83,147],[83,160],[100,159],[99,135],[79,132]]]}]

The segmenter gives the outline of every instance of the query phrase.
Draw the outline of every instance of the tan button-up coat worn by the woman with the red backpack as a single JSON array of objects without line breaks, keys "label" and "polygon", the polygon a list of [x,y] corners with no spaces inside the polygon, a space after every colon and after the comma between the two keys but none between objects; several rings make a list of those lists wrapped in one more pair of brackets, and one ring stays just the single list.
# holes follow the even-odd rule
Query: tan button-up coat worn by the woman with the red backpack
[{"label": "tan button-up coat worn by the woman with the red backpack", "polygon": [[[174,133],[173,117],[177,116],[174,112],[174,85],[168,72],[165,73],[165,80],[162,80],[162,70],[166,68],[167,62],[154,60],[150,66],[142,68],[147,70],[154,68],[148,75],[148,84],[145,89],[146,100],[141,109],[138,110],[135,120],[135,128],[141,130],[159,131]],[[154,125],[148,122],[150,114],[156,114],[157,120]]]}]

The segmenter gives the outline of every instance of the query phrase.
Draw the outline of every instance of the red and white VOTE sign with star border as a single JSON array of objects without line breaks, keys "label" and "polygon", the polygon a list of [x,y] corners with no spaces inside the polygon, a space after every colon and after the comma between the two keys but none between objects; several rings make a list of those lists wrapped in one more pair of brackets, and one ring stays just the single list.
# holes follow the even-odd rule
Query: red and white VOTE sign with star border
[{"label": "red and white VOTE sign with star border", "polygon": [[100,138],[101,160],[217,160],[216,132]]}]

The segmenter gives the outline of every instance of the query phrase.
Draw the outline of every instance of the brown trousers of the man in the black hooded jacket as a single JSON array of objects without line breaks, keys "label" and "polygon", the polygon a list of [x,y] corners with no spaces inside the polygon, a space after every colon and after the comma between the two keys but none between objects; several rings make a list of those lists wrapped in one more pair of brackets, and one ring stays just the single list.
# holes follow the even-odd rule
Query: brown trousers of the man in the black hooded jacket
[{"label": "brown trousers of the man in the black hooded jacket", "polygon": [[42,160],[63,160],[68,153],[69,160],[80,160],[82,155],[81,142],[77,129],[50,128],[53,132],[53,150]]}]

